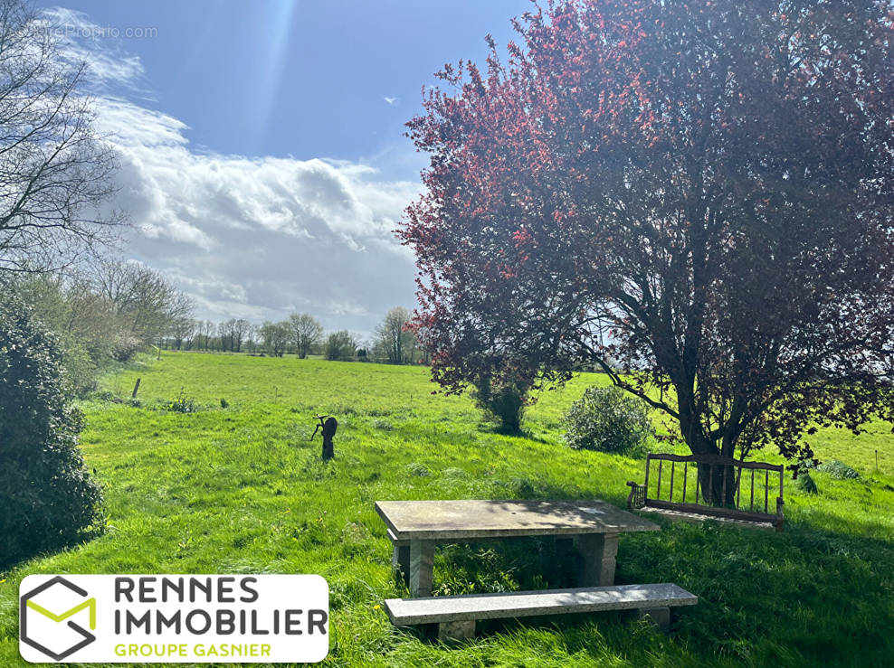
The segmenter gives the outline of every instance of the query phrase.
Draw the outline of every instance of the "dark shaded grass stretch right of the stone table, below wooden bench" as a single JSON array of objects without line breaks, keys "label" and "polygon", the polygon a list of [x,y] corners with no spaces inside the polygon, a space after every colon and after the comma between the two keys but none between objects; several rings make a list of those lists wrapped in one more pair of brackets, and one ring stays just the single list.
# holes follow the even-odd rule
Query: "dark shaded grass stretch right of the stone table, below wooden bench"
[{"label": "dark shaded grass stretch right of the stone table, below wooden bench", "polygon": [[[622,541],[619,582],[676,582],[699,596],[677,630],[712,654],[761,663],[883,664],[894,628],[894,545],[789,526],[768,533],[718,522],[666,524]],[[848,642],[842,642],[848,638]],[[872,657],[875,657],[874,659]]]}]

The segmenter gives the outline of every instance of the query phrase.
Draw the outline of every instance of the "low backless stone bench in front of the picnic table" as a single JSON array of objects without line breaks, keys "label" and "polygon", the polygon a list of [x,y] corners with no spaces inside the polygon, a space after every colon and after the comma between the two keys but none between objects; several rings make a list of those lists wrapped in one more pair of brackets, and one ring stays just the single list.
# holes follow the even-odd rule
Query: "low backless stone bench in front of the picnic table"
[{"label": "low backless stone bench in front of the picnic table", "polygon": [[395,626],[437,624],[441,640],[475,635],[479,619],[564,615],[602,610],[638,610],[667,631],[671,606],[694,606],[699,598],[674,584],[619,585],[506,594],[389,598],[385,611]]}]

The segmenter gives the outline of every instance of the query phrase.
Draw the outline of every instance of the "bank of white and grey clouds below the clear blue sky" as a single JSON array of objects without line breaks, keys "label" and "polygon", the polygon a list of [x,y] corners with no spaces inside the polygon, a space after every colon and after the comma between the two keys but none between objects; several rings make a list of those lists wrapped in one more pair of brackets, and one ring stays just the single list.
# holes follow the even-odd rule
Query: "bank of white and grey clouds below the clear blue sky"
[{"label": "bank of white and grey clouds below the clear blue sky", "polygon": [[[91,25],[70,10],[48,16]],[[391,306],[413,305],[412,258],[392,230],[419,183],[344,160],[196,152],[185,123],[129,99],[146,97],[138,58],[108,38],[64,46],[90,63],[97,127],[119,153],[112,204],[142,232],[128,255],[176,281],[197,316],[259,322],[300,310],[368,334]]]}]

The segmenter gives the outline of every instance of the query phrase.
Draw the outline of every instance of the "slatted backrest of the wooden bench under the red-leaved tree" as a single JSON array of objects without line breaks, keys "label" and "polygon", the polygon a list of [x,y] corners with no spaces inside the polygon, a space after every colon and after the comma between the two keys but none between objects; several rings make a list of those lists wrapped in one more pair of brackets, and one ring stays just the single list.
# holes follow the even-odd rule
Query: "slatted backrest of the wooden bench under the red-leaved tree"
[{"label": "slatted backrest of the wooden bench under the red-leaved tree", "polygon": [[[653,462],[656,462],[657,466],[653,465]],[[667,466],[665,462],[670,462],[670,466]],[[705,499],[704,495],[699,500],[699,466],[708,466],[709,477],[713,477],[718,470],[723,471],[721,498],[728,496],[727,493],[731,488],[728,488],[727,485],[735,485],[734,508],[717,506],[713,503],[713,499]],[[680,475],[678,470],[680,467],[683,469],[682,475]],[[749,471],[749,474],[745,474],[745,471]],[[756,472],[759,471],[763,471],[764,475],[756,475]],[[771,473],[775,474],[775,476],[771,477]],[[743,475],[746,476],[747,482],[745,499],[742,499]],[[765,462],[746,462],[741,459],[720,455],[650,453],[646,456],[644,500],[651,506],[671,510],[691,510],[696,513],[740,517],[744,520],[766,520],[767,516],[773,517],[781,513],[780,506],[783,503],[784,476],[785,466],[766,464]],[[758,483],[757,495],[755,495],[756,480]],[[770,489],[771,485],[775,487],[776,484],[779,485],[778,501],[773,503],[771,509],[770,500],[772,497]],[[763,490],[760,489],[760,485],[763,485]],[[692,492],[692,487],[695,488],[694,493]],[[763,491],[764,497],[763,504],[760,503],[762,501],[761,491]],[[654,494],[652,495],[652,493]]]}]

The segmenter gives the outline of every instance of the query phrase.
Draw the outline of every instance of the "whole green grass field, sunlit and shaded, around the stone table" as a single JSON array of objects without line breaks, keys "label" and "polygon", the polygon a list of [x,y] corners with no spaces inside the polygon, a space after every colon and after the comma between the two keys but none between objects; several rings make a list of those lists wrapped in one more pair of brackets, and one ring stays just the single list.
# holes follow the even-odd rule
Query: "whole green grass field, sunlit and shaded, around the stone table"
[{"label": "whole green grass field, sunlit and shaded, around the stone table", "polygon": [[[129,397],[137,377],[140,407]],[[109,375],[85,402],[88,465],[108,532],[0,573],[0,665],[18,656],[17,591],[31,573],[319,573],[328,579],[333,666],[886,665],[894,656],[894,436],[825,431],[821,458],[857,480],[786,482],[784,532],[663,522],[621,539],[619,583],[676,582],[699,605],[665,636],[604,613],[482,624],[446,648],[395,629],[401,595],[380,499],[601,498],[623,506],[642,460],[573,451],[562,415],[588,384],[545,392],[525,437],[495,433],[465,397],[432,395],[423,368],[166,353]],[[199,410],[162,409],[183,388]],[[222,408],[221,399],[229,406]],[[314,413],[338,417],[323,464]],[[875,451],[879,451],[876,468]],[[774,459],[771,453],[757,458]],[[570,585],[549,541],[438,550],[437,594]],[[120,664],[117,664],[120,665]],[[218,665],[223,665],[219,663]]]}]

